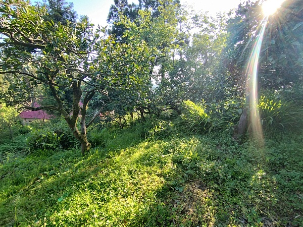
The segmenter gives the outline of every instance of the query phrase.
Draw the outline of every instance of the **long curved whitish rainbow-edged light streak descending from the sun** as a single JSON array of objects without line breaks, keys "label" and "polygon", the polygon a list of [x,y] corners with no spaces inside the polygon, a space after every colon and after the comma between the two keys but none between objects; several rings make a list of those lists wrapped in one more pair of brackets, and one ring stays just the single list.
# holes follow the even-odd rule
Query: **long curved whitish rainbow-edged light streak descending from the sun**
[{"label": "long curved whitish rainbow-edged light streak descending from the sun", "polygon": [[252,48],[246,68],[247,93],[249,94],[250,125],[252,135],[258,139],[260,146],[264,145],[263,130],[258,109],[258,63],[268,17],[262,21],[262,27]]}]

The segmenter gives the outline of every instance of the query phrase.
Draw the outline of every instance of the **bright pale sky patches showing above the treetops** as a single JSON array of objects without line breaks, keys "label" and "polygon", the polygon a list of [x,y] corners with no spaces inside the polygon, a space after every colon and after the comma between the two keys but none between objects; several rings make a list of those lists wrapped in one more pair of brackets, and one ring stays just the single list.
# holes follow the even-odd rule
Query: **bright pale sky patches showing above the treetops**
[{"label": "bright pale sky patches showing above the treetops", "polygon": [[[241,0],[180,0],[182,5],[191,5],[195,10],[209,11],[210,14],[216,15],[218,12],[226,11],[243,2]],[[87,15],[91,23],[99,24],[100,26],[107,25],[107,16],[114,0],[67,0],[74,3],[74,9],[78,16]],[[138,3],[137,0],[128,0],[129,3]]]}]

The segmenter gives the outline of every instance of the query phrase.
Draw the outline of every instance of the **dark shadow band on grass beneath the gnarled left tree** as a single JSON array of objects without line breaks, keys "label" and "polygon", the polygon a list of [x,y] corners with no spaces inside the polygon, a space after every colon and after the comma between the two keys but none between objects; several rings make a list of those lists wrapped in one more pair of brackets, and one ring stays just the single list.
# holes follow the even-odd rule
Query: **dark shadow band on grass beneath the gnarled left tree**
[{"label": "dark shadow band on grass beneath the gnarled left tree", "polygon": [[40,225],[45,217],[60,209],[64,199],[102,172],[112,157],[141,141],[134,134],[124,135],[123,139],[119,135],[118,132],[107,147],[94,148],[84,157],[80,150],[71,149],[3,163],[0,225]]}]

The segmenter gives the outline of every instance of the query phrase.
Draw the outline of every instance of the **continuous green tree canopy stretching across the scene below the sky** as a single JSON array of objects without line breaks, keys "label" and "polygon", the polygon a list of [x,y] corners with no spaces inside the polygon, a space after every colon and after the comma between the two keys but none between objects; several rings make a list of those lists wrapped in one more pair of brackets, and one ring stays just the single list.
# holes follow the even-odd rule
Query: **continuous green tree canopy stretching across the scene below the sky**
[{"label": "continuous green tree canopy stretching across the scene below the sky", "polygon": [[[300,86],[301,0],[285,1],[269,18],[261,3],[248,1],[212,17],[179,1],[115,0],[106,30],[87,17],[76,21],[72,4],[63,0],[34,6],[1,1],[0,98],[61,115],[84,154],[86,128],[101,111],[123,117],[137,110],[143,118],[167,109],[180,113],[188,99],[220,106],[245,97],[246,67],[262,25],[258,90]],[[88,107],[93,117],[87,123]]]}]

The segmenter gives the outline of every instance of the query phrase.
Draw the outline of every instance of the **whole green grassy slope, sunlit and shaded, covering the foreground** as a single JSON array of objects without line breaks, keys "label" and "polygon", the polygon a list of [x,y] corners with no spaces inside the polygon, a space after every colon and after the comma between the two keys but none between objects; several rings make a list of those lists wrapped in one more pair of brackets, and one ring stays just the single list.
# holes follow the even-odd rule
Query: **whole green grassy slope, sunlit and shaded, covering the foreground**
[{"label": "whole green grassy slope, sunlit and shaded, covering the foreground", "polygon": [[0,226],[303,226],[303,135],[144,141],[138,128],[0,165]]}]

